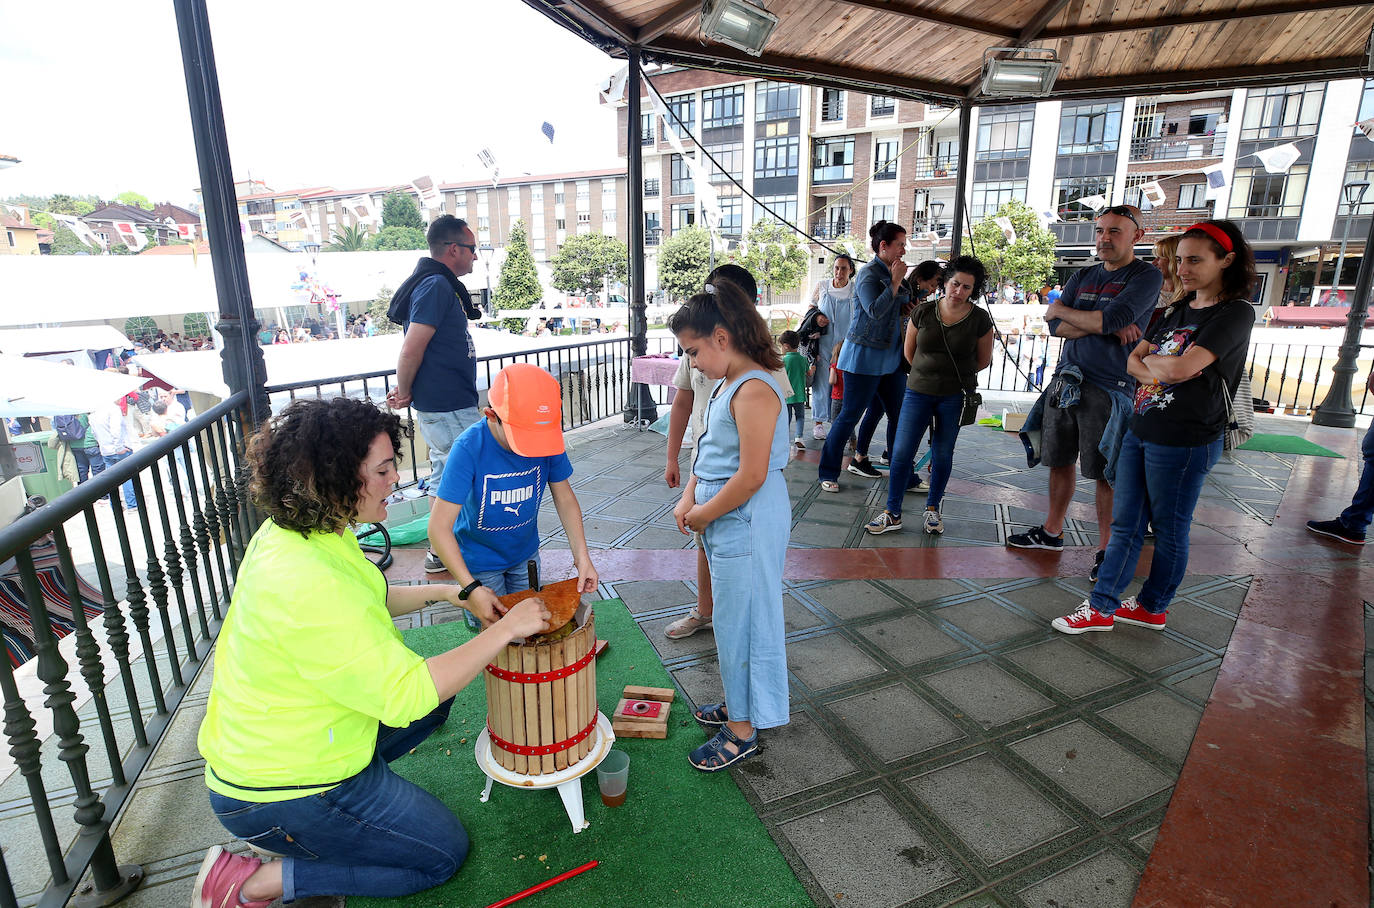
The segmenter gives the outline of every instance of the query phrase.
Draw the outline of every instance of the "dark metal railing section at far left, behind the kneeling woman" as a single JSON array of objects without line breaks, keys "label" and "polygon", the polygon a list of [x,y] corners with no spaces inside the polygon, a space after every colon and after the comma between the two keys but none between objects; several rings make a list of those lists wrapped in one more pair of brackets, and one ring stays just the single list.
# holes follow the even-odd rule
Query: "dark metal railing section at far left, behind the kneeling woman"
[{"label": "dark metal railing section at far left, behind the kneeling woman", "polygon": [[[32,662],[14,665],[25,655],[14,637],[7,639],[11,652],[0,657],[4,734],[27,786],[47,863],[7,868],[0,857],[0,905],[16,905],[16,890],[25,903],[62,905],[88,867],[92,881],[81,896],[92,903],[109,904],[143,878],[137,865],[115,860],[110,827],[205,666],[260,522],[249,504],[242,456],[246,404],[246,393],[229,397],[0,529],[0,565],[12,562],[33,628]],[[126,512],[125,497],[137,507]],[[115,547],[111,565],[107,549]],[[92,565],[98,587],[78,574],[77,552]],[[122,595],[115,592],[120,573]],[[59,652],[65,615],[54,615],[45,599],[56,584],[71,603],[80,679]],[[82,596],[82,588],[91,592]],[[92,628],[96,615],[99,635]],[[147,694],[140,694],[136,669],[147,674]],[[41,709],[33,709],[32,691],[27,701],[21,691],[29,674],[43,681]],[[147,717],[148,703],[140,706],[140,699],[151,699]],[[85,701],[95,712],[89,729],[78,716]],[[56,761],[49,753],[45,764],[49,728],[58,751]],[[103,757],[88,762],[88,738],[95,736]],[[62,767],[70,793],[49,788],[51,776],[44,779],[45,771]],[[59,837],[55,804],[74,808],[80,831],[70,841]]]}]

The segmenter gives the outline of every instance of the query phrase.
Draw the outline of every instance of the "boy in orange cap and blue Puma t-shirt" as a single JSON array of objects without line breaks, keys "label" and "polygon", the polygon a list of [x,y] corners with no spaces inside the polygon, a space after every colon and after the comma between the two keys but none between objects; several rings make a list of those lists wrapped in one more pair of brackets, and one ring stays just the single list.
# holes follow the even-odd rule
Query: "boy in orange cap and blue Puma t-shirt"
[{"label": "boy in orange cap and blue Puma t-shirt", "polygon": [[493,621],[496,596],[529,589],[528,562],[539,560],[539,506],[554,496],[567,534],[577,588],[596,589],[583,510],[567,482],[558,381],[529,363],[507,365],[492,381],[485,420],[470,426],[449,452],[430,508],[429,538],[448,573],[463,585],[469,610]]}]

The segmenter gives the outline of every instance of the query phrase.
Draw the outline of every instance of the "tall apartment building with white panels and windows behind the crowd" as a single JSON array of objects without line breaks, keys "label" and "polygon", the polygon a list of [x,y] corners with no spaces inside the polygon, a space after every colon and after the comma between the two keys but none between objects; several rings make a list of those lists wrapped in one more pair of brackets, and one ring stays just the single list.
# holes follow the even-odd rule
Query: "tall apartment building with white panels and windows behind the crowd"
[{"label": "tall apartment building with white panels and windows behind the crowd", "polygon": [[[1374,80],[974,109],[963,174],[954,109],[684,69],[649,81],[675,114],[671,128],[687,154],[699,154],[691,133],[717,162],[709,172],[725,243],[768,216],[767,205],[826,242],[861,242],[885,218],[908,228],[916,254],[923,246],[947,254],[962,188],[969,223],[1009,199],[1052,212],[1058,265],[1068,272],[1094,254],[1092,207],[1081,199],[1101,195],[1145,209],[1142,253],[1205,217],[1235,220],[1256,246],[1256,302],[1270,305],[1309,299],[1314,286],[1353,284],[1374,216],[1374,191],[1353,210],[1342,196],[1348,183],[1374,181],[1374,141],[1355,128],[1374,117]],[[651,109],[646,85],[639,141],[650,287],[653,247],[701,218],[692,172]],[[620,111],[624,151],[624,103]],[[1270,173],[1256,152],[1290,141],[1301,157]],[[1224,184],[1210,185],[1205,169],[1219,170]],[[1151,202],[1160,192],[1162,201]],[[1336,276],[1347,221],[1351,243]]]}]

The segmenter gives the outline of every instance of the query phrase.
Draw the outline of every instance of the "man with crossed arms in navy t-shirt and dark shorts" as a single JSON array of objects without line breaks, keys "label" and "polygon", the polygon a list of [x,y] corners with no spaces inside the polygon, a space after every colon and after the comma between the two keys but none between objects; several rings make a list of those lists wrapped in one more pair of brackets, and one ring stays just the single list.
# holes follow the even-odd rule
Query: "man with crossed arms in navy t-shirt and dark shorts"
[{"label": "man with crossed arms in navy t-shirt and dark shorts", "polygon": [[[1096,481],[1098,554],[1090,574],[1095,581],[1112,537],[1112,485],[1105,478],[1106,459],[1099,446],[1112,419],[1112,394],[1135,390],[1125,360],[1150,321],[1164,276],[1135,257],[1135,245],[1145,236],[1138,207],[1106,209],[1094,234],[1099,264],[1069,277],[1063,294],[1044,312],[1050,332],[1065,338],[1046,391],[1040,442],[1040,462],[1050,467],[1050,510],[1044,523],[1009,536],[1007,545],[1063,549],[1063,519],[1073,500],[1077,464],[1084,478]],[[1057,405],[1070,365],[1083,375],[1081,396],[1069,407]]]}]

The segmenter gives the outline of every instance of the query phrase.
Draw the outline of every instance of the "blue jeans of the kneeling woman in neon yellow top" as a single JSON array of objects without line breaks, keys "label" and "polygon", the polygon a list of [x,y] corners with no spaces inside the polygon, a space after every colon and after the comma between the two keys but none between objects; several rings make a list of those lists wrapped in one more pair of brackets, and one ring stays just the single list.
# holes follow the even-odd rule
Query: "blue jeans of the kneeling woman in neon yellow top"
[{"label": "blue jeans of the kneeling woman in neon yellow top", "polygon": [[467,831],[429,791],[387,764],[444,724],[453,699],[405,728],[381,725],[363,772],[322,794],[239,801],[210,793],[235,838],[282,854],[282,901],[309,896],[409,896],[448,881],[467,857]]}]

